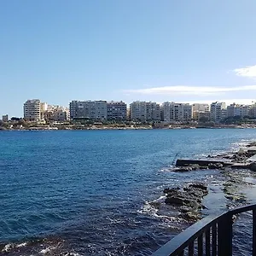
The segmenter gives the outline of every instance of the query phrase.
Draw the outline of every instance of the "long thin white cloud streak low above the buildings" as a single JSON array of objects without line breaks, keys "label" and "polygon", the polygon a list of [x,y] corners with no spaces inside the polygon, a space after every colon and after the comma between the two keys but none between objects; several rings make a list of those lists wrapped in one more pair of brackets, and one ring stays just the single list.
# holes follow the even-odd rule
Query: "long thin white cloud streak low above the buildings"
[{"label": "long thin white cloud streak low above the buildings", "polygon": [[146,89],[124,90],[127,94],[141,94],[141,95],[170,95],[170,96],[216,96],[223,95],[231,91],[245,91],[256,90],[256,85],[244,85],[239,87],[217,87],[217,86],[163,86]]}]

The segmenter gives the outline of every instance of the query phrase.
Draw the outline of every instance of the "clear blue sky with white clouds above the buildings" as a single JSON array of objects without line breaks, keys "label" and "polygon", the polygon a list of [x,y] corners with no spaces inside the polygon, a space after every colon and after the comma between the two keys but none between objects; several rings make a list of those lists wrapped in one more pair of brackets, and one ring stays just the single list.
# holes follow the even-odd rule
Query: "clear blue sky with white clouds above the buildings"
[{"label": "clear blue sky with white clouds above the buildings", "polygon": [[27,99],[253,102],[255,25],[255,0],[2,0],[0,115]]}]

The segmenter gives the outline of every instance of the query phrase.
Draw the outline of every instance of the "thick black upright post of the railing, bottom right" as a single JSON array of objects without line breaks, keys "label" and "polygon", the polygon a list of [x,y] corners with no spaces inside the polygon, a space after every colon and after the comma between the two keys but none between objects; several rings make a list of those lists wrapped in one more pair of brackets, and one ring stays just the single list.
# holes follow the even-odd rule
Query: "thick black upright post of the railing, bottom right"
[{"label": "thick black upright post of the railing, bottom right", "polygon": [[218,221],[218,256],[232,255],[232,213],[227,212]]}]

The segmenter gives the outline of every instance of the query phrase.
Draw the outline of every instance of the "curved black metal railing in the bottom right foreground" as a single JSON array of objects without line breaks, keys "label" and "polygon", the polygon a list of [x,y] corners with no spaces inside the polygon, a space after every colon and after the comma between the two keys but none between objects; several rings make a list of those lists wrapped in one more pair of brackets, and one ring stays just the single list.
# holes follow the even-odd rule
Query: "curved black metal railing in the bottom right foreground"
[{"label": "curved black metal railing in the bottom right foreground", "polygon": [[236,208],[215,217],[206,217],[191,225],[160,247],[152,256],[232,255],[233,217],[253,211],[253,256],[256,256],[256,205]]}]

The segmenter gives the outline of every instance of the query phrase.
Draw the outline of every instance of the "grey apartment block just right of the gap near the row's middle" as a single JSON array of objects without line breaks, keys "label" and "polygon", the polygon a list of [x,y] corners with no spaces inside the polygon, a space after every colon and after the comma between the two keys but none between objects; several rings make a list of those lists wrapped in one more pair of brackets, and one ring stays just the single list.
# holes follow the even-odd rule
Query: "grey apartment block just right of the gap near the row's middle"
[{"label": "grey apartment block just right of the gap near the row's middle", "polygon": [[160,104],[156,102],[132,102],[130,115],[132,120],[160,121]]}]

